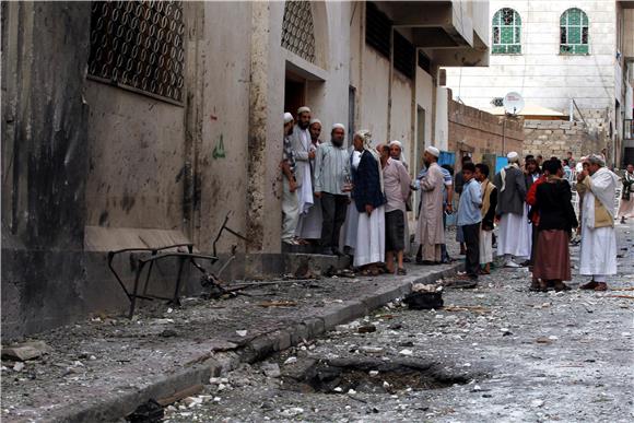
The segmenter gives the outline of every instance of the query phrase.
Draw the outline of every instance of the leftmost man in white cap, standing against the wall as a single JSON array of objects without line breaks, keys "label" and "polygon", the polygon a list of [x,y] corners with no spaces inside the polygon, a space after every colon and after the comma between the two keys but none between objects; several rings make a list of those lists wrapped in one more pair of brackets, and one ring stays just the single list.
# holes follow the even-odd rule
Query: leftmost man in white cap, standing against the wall
[{"label": "leftmost man in white cap, standing against the wall", "polygon": [[297,184],[295,181],[295,155],[289,136],[293,131],[293,115],[284,114],[284,148],[280,168],[284,174],[282,192],[282,242],[297,245],[295,228],[297,227]]}]

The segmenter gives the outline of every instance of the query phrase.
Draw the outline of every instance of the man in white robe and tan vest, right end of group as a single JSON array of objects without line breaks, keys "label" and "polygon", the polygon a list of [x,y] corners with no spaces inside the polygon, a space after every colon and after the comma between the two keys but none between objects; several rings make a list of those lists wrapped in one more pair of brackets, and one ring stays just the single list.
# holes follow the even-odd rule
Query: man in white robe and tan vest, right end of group
[{"label": "man in white robe and tan vest, right end of group", "polygon": [[591,275],[582,290],[606,291],[608,275],[617,274],[614,196],[619,177],[600,155],[588,157],[589,168],[577,175],[577,191],[584,197],[579,274]]}]

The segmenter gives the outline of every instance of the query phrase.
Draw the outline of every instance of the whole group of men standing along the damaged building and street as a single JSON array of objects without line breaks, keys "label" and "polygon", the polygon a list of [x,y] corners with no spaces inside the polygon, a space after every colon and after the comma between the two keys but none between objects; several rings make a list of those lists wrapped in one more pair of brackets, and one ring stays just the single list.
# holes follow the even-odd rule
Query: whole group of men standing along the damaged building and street
[{"label": "whole group of men standing along the damaged building and street", "polygon": [[[486,164],[463,157],[461,172],[454,180],[453,169],[437,163],[439,151],[428,146],[423,171],[412,179],[399,141],[373,146],[372,134],[359,131],[349,150],[343,125],[332,126],[327,142],[320,140],[320,134],[321,121],[312,117],[308,107],[297,109],[296,121],[290,113],[284,114],[284,154],[280,165],[284,175],[284,243],[312,244],[326,255],[350,254],[354,267],[365,274],[386,269],[406,274],[403,261],[410,247],[408,211],[413,210],[413,193],[420,191],[414,236],[420,265],[450,260],[445,227],[447,214],[454,212],[456,193],[458,240],[466,256],[466,272],[460,279],[472,283],[480,274],[490,273],[493,228],[497,224],[497,255],[503,256],[505,267],[531,266],[532,290],[566,289],[563,281],[570,280],[567,245],[573,228],[578,226],[570,201],[568,171],[576,165],[572,153],[565,163],[555,157],[542,162],[541,156],[527,156],[523,168],[519,155],[512,152],[507,155],[508,165],[492,179]],[[615,215],[608,201],[610,192],[613,198],[615,185],[610,184],[611,175],[615,175],[604,167],[600,155],[587,157],[584,166],[577,172],[576,184],[584,198],[577,230],[582,234],[580,272],[592,275],[584,286],[601,290],[606,287],[606,277],[615,272],[615,258],[609,257],[615,251]],[[563,197],[554,201],[556,196]],[[554,247],[559,249],[550,252],[556,254],[549,254]],[[559,261],[553,261],[553,257]]]}]

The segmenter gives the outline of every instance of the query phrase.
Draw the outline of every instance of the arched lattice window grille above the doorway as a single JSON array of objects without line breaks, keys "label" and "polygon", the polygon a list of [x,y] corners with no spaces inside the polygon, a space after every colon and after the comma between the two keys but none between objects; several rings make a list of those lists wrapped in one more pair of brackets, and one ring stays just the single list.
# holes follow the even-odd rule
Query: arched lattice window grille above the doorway
[{"label": "arched lattice window grille above the doorway", "polygon": [[315,62],[315,30],[309,1],[292,0],[285,2],[282,47],[312,63]]}]

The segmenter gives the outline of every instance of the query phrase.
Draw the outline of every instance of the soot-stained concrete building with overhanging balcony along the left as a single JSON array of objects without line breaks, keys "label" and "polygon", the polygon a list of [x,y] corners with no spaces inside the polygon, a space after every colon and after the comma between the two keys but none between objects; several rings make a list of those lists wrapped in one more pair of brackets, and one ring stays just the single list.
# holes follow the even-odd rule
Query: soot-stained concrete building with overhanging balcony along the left
[{"label": "soot-stained concrete building with overhanging balcony along the left", "polygon": [[237,245],[227,274],[274,268],[284,110],[309,105],[325,137],[343,122],[400,139],[414,169],[447,149],[439,67],[489,59],[484,1],[1,8],[9,337],[125,308],[107,251],[210,251],[230,211],[247,242],[220,239]]}]

